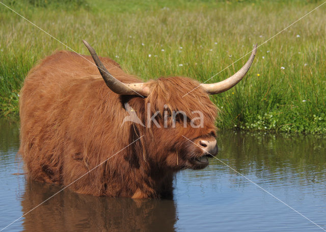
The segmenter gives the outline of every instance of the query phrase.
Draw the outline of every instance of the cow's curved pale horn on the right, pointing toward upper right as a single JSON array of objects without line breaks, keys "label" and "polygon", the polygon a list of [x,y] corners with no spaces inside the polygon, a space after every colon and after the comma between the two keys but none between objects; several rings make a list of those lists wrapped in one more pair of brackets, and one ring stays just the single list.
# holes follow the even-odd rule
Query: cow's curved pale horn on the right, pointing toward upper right
[{"label": "cow's curved pale horn on the right, pointing toward upper right", "polygon": [[246,75],[246,73],[248,72],[251,64],[254,61],[256,51],[257,51],[257,44],[255,45],[247,63],[244,64],[239,71],[234,73],[228,79],[225,79],[224,81],[218,83],[201,84],[201,86],[207,91],[208,94],[218,94],[231,89],[233,86],[238,84],[238,82],[241,81],[243,76]]}]

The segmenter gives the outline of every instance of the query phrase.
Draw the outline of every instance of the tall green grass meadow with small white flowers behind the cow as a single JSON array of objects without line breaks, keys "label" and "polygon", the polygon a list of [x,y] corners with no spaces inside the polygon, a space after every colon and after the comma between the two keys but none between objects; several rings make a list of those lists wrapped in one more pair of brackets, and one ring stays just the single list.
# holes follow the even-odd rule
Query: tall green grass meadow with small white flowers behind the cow
[{"label": "tall green grass meadow with small white flowers behind the cow", "polygon": [[[82,43],[86,39],[100,56],[115,59],[144,81],[182,75],[203,82],[322,1],[4,3],[78,53],[88,54]],[[246,78],[211,97],[221,109],[218,127],[326,132],[325,8],[260,46]],[[0,5],[0,114],[17,118],[24,77],[38,60],[58,49],[67,48]],[[247,59],[208,83],[227,78]]]}]

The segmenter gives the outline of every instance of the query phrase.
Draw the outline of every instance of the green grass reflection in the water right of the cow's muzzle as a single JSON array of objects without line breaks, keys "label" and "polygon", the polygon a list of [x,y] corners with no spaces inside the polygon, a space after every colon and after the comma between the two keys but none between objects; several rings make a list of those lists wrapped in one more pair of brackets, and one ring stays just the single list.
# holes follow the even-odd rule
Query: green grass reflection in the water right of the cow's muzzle
[{"label": "green grass reflection in the water right of the cow's muzzle", "polygon": [[320,183],[325,187],[326,136],[266,133],[221,134],[222,160],[242,174]]}]

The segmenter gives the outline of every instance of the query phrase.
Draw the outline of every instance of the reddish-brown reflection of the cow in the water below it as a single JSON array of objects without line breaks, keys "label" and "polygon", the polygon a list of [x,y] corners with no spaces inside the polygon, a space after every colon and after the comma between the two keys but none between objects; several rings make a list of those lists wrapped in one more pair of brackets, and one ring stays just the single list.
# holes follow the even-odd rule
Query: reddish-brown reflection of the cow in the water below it
[{"label": "reddish-brown reflection of the cow in the water below it", "polygon": [[[58,186],[30,182],[23,214],[58,192]],[[175,231],[176,208],[169,199],[94,197],[62,191],[24,216],[24,231]]]}]

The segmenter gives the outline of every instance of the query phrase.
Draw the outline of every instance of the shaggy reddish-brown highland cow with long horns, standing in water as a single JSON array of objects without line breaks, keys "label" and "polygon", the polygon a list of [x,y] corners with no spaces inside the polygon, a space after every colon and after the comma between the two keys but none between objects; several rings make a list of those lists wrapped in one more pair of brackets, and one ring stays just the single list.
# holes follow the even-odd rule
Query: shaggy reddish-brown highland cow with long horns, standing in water
[{"label": "shaggy reddish-brown highland cow with long horns, standing in water", "polygon": [[[107,86],[91,56],[69,51],[45,58],[25,79],[19,153],[29,178],[97,196],[171,196],[176,171],[204,168],[207,156],[216,154],[216,107],[208,94],[236,85],[250,68],[256,46],[233,76],[199,86],[179,76],[141,83],[84,43]],[[142,123],[124,122],[130,116],[126,106]],[[184,112],[183,118],[171,117],[176,111]],[[199,127],[190,125],[198,116],[194,111],[201,112]],[[150,118],[160,126],[147,126]]]}]

